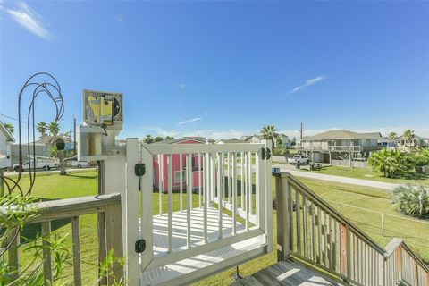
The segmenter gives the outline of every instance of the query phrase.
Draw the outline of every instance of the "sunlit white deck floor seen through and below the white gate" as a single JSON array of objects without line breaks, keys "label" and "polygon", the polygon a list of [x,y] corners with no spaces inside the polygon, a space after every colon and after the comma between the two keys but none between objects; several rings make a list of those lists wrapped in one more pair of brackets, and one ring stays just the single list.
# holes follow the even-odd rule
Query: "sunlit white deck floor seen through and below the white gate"
[{"label": "sunlit white deck floor seen through and below the white gate", "polygon": [[[208,242],[218,240],[219,238],[219,213],[214,207],[207,208],[207,239]],[[203,209],[193,208],[191,211],[190,239],[191,247],[204,241]],[[154,215],[154,256],[162,256],[168,251],[168,216]],[[237,231],[244,231],[245,225],[237,221]],[[232,217],[223,214],[223,236],[229,236],[232,233]],[[184,248],[187,245],[187,214],[183,212],[174,212],[172,214],[172,250]],[[196,257],[183,259],[171,265],[145,271],[140,274],[140,285],[178,285],[176,280],[182,275],[187,275],[196,271],[204,271],[205,267],[211,267],[215,264],[223,264],[229,259],[246,254],[263,245],[263,240],[255,237],[249,240],[240,241],[223,248],[217,248],[213,251]]]}]

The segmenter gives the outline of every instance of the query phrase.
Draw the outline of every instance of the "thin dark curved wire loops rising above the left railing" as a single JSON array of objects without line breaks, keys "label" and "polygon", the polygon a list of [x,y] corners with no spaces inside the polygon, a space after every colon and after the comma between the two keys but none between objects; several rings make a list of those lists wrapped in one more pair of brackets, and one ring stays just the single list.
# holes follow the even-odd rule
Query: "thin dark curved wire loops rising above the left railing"
[{"label": "thin dark curved wire loops rising above the left railing", "polygon": [[[30,88],[34,87],[32,91],[31,102],[29,105],[29,110],[27,113],[27,139],[29,143],[27,144],[27,155],[29,158],[29,189],[25,192],[20,186],[20,181],[22,178],[22,130],[21,130],[21,99],[24,92]],[[12,179],[10,177],[6,177],[4,175],[0,176],[0,179],[4,181],[4,185],[6,186],[9,195],[12,195],[14,189],[18,189],[21,197],[28,197],[31,194],[31,190],[34,186],[34,182],[36,181],[36,170],[31,167],[31,162],[35,162],[36,160],[36,122],[35,122],[35,102],[36,98],[40,94],[46,94],[53,103],[55,104],[55,121],[60,120],[63,117],[64,113],[64,104],[63,104],[63,94],[61,92],[61,87],[58,81],[55,79],[53,75],[48,72],[38,72],[29,77],[29,79],[24,83],[21,88],[21,91],[18,95],[18,140],[19,140],[19,172],[18,178]],[[30,140],[31,139],[31,140]],[[33,151],[33,155],[31,156],[31,150]],[[32,161],[33,160],[33,161]],[[10,240],[9,244],[2,248],[0,252],[0,256],[4,254],[4,252],[13,245],[13,241],[16,240],[19,235],[21,228],[18,227],[16,231],[13,233],[13,238]]]}]

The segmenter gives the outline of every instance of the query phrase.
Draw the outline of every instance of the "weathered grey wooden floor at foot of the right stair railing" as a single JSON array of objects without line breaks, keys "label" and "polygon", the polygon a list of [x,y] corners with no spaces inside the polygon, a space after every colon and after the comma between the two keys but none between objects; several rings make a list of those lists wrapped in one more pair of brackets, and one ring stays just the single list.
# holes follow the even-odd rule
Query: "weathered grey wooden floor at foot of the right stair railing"
[{"label": "weathered grey wooden floor at foot of the right stair railing", "polygon": [[258,271],[240,281],[234,282],[233,286],[277,286],[277,285],[308,285],[308,286],[328,286],[341,285],[333,282],[322,274],[299,265],[297,262],[279,262],[265,269]]}]

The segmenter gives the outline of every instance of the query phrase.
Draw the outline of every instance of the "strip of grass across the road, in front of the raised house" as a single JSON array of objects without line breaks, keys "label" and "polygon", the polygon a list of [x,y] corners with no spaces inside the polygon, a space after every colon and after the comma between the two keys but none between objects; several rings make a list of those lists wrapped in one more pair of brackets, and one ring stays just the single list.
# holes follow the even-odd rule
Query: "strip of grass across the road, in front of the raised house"
[{"label": "strip of grass across the road, in front of the raised house", "polygon": [[384,181],[391,182],[394,184],[400,183],[412,183],[412,184],[422,184],[425,187],[429,187],[429,174],[412,172],[406,178],[400,179],[391,179],[383,176],[381,172],[374,172],[370,169],[359,169],[359,168],[349,168],[341,166],[326,166],[319,171],[308,171],[307,169],[301,169],[307,172],[320,172],[328,175],[336,175],[342,177],[371,180],[371,181]]}]

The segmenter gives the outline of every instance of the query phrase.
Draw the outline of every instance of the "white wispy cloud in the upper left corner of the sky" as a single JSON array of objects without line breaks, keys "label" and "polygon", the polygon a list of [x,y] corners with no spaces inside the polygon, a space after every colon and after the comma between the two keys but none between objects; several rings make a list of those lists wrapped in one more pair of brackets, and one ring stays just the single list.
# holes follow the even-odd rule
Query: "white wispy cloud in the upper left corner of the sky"
[{"label": "white wispy cloud in the upper left corner of the sky", "polygon": [[43,25],[42,17],[25,2],[20,2],[10,8],[3,7],[2,10],[9,14],[13,21],[16,21],[23,28],[28,29],[39,38],[46,40],[53,38],[51,32]]}]

